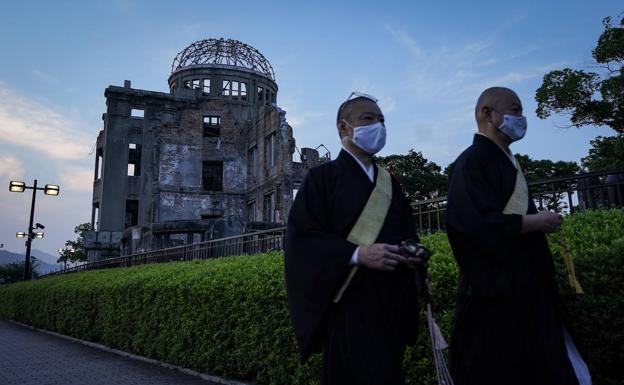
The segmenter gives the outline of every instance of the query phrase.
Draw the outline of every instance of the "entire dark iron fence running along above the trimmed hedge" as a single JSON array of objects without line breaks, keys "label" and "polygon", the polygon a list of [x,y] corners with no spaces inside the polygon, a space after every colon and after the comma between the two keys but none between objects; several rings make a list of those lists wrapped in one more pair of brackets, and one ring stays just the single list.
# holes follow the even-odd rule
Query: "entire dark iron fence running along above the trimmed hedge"
[{"label": "entire dark iron fence running along above the trimmed hedge", "polygon": [[[528,182],[528,185],[536,206],[540,209],[572,212],[599,207],[624,206],[624,168],[535,180]],[[444,230],[446,204],[446,197],[412,203],[416,224],[421,232]],[[283,250],[285,236],[286,227],[279,227],[233,237],[107,258],[49,272],[40,277],[92,269],[192,261]]]}]

